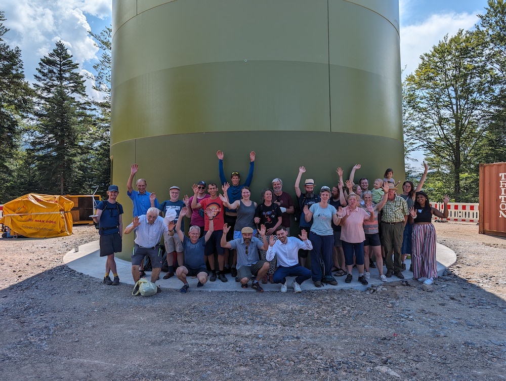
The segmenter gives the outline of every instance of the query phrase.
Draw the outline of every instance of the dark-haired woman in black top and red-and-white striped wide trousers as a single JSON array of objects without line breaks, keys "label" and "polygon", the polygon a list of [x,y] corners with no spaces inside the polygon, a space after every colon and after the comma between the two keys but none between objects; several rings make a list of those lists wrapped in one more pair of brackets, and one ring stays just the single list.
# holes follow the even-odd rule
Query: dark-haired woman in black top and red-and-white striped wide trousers
[{"label": "dark-haired woman in black top and red-and-white striped wide trousers", "polygon": [[416,192],[414,206],[409,208],[409,221],[413,225],[413,278],[425,284],[434,283],[438,277],[436,262],[436,229],[432,225],[432,215],[440,218],[448,217],[448,202],[444,196],[443,213],[431,206],[425,192]]}]

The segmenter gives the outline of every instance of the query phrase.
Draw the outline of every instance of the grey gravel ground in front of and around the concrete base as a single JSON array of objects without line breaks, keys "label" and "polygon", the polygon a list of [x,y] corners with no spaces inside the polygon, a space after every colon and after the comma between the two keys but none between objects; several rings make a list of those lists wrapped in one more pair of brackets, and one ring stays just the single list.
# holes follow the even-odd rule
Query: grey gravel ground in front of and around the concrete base
[{"label": "grey gravel ground in front of and around the concrete base", "polygon": [[132,297],[63,265],[95,228],[0,240],[3,380],[500,380],[506,240],[435,224],[457,263],[432,286]]}]

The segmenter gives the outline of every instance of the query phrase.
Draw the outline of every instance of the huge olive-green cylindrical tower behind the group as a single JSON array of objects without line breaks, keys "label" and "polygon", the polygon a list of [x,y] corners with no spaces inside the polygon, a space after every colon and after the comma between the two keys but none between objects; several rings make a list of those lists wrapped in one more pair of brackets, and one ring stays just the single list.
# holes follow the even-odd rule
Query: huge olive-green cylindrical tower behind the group
[{"label": "huge olive-green cylindrical tower behind the group", "polygon": [[[321,185],[404,178],[398,0],[113,0],[112,181],[168,188],[246,176],[252,199],[299,166]],[[126,225],[125,225],[126,226]],[[129,236],[130,237],[130,236]],[[125,237],[126,238],[126,237]],[[132,239],[132,238],[128,238]],[[123,258],[131,245],[125,239]]]}]

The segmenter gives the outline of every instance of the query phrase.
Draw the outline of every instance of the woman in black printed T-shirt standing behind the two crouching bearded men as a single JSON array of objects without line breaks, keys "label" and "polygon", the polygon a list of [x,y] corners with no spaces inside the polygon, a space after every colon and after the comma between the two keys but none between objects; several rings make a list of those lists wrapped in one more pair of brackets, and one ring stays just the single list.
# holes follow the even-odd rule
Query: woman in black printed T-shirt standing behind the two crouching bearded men
[{"label": "woman in black printed T-shirt standing behind the two crouching bearded men", "polygon": [[[273,197],[272,190],[267,188],[264,189],[262,191],[262,196],[260,199],[261,203],[258,204],[257,209],[255,210],[255,224],[257,224],[257,226],[265,225],[265,228],[267,229],[265,235],[267,242],[269,242],[271,235],[275,237],[274,239],[277,239],[275,232],[277,227],[281,225],[282,221],[281,208],[279,207],[278,204],[272,202],[272,197]],[[258,236],[260,236],[259,233],[257,234]],[[262,261],[265,261],[267,252],[265,250],[259,250],[259,253],[260,259]],[[274,259],[270,262],[269,271],[267,272],[267,275],[264,276],[264,278],[262,279],[262,283],[264,284],[267,283],[267,277],[269,277],[269,281],[271,283],[274,283],[273,276],[274,272],[276,271],[276,267],[277,261],[276,257],[274,257]]]}]

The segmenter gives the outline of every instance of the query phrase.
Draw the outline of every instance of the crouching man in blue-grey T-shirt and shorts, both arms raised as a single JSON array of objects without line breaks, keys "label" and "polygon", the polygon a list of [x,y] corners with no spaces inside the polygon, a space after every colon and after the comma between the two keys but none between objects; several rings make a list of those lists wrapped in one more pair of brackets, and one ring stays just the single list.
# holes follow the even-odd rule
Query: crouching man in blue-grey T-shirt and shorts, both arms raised
[{"label": "crouching man in blue-grey T-shirt and shorts, both arms raised", "polygon": [[182,293],[186,293],[188,291],[188,287],[190,285],[186,281],[186,276],[196,276],[198,279],[197,287],[202,287],[205,282],[207,282],[207,276],[209,273],[205,268],[204,261],[204,247],[205,243],[209,240],[209,238],[213,235],[214,232],[214,222],[213,216],[215,211],[213,209],[207,208],[205,213],[209,219],[209,230],[205,233],[202,238],[200,237],[200,227],[193,225],[190,226],[188,230],[189,237],[185,236],[183,231],[181,230],[181,221],[183,217],[186,216],[188,212],[188,207],[183,207],[179,214],[179,219],[176,224],[176,233],[178,234],[179,239],[183,242],[183,252],[184,252],[184,265],[179,266],[176,270],[176,276],[180,281],[183,282],[183,287],[179,290]]}]

